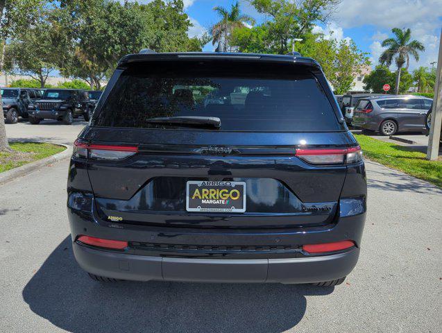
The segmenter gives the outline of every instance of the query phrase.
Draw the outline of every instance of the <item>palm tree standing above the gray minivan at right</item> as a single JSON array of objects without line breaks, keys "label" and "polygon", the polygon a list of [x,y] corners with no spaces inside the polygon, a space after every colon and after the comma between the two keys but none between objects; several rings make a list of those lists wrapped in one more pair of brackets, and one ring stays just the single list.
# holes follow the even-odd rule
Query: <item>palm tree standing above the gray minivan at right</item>
[{"label": "palm tree standing above the gray minivan at right", "polygon": [[395,94],[399,92],[399,81],[400,81],[400,71],[405,63],[408,69],[410,55],[413,56],[416,61],[419,61],[419,53],[418,51],[425,51],[425,46],[418,40],[412,40],[411,38],[411,30],[407,28],[407,30],[402,30],[400,28],[391,29],[394,37],[387,38],[382,42],[382,47],[388,47],[380,56],[379,62],[381,65],[390,66],[393,59],[398,66],[398,72],[396,74],[396,88]]}]

